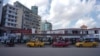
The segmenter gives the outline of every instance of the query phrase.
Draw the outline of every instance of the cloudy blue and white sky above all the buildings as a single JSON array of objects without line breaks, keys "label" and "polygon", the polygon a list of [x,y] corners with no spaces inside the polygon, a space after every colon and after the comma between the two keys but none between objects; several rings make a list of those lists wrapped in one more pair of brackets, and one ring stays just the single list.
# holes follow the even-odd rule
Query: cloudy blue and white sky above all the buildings
[{"label": "cloudy blue and white sky above all the buildings", "polygon": [[38,6],[42,21],[51,22],[53,29],[100,27],[100,0],[4,0],[4,4],[15,1],[30,9]]}]

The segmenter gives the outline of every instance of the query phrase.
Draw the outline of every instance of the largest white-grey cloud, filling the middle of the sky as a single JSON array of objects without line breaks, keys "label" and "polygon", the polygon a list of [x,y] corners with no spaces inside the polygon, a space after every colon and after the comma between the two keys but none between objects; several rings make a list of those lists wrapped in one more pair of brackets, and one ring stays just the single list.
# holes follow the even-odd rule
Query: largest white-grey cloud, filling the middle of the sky
[{"label": "largest white-grey cloud, filling the middle of the sky", "polygon": [[[60,26],[60,28],[67,28],[73,20],[85,17],[85,15],[91,13],[94,4],[95,0],[83,0],[82,2],[80,0],[66,0],[64,2],[61,2],[61,0],[53,0],[49,20],[51,20],[54,25]],[[54,29],[55,28],[56,26]]]}]

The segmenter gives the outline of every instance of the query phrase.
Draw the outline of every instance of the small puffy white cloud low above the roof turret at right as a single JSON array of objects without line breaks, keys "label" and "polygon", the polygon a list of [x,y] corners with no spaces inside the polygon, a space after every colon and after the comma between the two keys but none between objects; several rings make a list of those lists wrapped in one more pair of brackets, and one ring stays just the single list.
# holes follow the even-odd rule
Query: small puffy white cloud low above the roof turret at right
[{"label": "small puffy white cloud low above the roof turret at right", "polygon": [[73,27],[80,28],[80,26],[82,26],[82,25],[86,25],[89,28],[91,28],[91,27],[95,27],[96,22],[91,17],[84,17],[84,18],[79,19],[76,22],[75,26],[73,26]]}]

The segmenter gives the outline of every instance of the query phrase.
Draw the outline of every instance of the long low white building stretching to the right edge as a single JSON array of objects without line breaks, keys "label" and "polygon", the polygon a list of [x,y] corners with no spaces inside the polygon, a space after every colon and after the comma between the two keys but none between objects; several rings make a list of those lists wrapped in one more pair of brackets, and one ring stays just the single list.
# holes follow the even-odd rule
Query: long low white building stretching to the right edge
[{"label": "long low white building stretching to the right edge", "polygon": [[[83,27],[84,26],[84,27]],[[69,29],[57,29],[46,31],[47,34],[58,34],[52,35],[48,37],[63,37],[63,38],[99,38],[100,40],[100,28],[69,28]],[[63,34],[63,35],[59,35]]]}]

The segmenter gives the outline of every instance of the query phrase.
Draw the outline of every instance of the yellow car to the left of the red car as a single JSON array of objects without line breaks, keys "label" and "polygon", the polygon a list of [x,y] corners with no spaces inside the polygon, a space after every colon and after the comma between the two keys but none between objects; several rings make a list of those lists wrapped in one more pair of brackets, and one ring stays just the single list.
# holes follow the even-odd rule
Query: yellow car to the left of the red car
[{"label": "yellow car to the left of the red car", "polygon": [[44,46],[44,42],[41,42],[41,41],[29,41],[29,42],[27,42],[26,43],[26,45],[28,46],[28,47],[43,47]]}]

